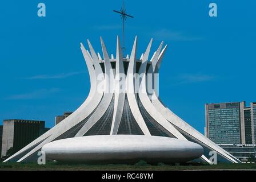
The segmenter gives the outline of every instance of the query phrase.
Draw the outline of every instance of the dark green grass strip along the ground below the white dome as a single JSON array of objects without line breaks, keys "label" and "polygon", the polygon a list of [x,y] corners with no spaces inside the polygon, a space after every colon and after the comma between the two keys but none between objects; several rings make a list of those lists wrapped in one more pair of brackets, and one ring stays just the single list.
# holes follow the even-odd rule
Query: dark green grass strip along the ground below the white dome
[{"label": "dark green grass strip along the ground below the white dome", "polygon": [[256,164],[218,164],[218,165],[167,165],[158,164],[152,166],[146,163],[137,163],[134,165],[126,164],[108,164],[108,165],[86,165],[86,164],[61,164],[61,163],[46,163],[46,165],[38,165],[37,163],[0,163],[0,171],[3,170],[46,170],[46,171],[98,171],[98,170],[110,170],[110,171],[173,171],[173,170],[256,170]]}]

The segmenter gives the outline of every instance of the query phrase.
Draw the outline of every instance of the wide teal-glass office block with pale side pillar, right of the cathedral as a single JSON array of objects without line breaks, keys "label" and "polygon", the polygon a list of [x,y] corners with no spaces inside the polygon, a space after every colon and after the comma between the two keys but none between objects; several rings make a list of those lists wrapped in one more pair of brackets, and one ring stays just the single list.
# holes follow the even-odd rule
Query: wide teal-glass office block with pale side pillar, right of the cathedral
[{"label": "wide teal-glass office block with pale side pillar, right of the cathedral", "polygon": [[244,129],[241,130],[243,105],[243,102],[206,104],[207,137],[217,144],[241,144],[245,140]]}]

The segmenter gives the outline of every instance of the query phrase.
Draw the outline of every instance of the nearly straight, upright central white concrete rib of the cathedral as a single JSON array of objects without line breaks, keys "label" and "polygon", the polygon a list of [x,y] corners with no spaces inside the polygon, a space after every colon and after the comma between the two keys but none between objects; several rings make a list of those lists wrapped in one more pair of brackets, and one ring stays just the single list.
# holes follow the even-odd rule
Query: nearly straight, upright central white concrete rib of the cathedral
[{"label": "nearly straight, upright central white concrete rib of the cathedral", "polygon": [[[117,36],[117,57],[115,63],[115,99],[110,135],[117,135],[125,105],[125,69],[119,36]],[[123,84],[124,83],[124,84]]]}]

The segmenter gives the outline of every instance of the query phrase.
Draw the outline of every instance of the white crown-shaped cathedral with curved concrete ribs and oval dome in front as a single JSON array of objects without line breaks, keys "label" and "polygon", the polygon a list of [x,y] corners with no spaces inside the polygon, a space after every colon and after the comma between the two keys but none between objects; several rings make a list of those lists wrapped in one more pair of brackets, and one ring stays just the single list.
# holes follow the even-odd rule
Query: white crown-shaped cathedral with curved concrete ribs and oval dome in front
[{"label": "white crown-shaped cathedral with curved concrete ribs and oval dome in front", "polygon": [[[173,148],[180,160],[185,160],[186,155],[179,154],[187,151],[189,156],[195,152],[197,158],[198,154],[201,155],[198,160],[210,163],[209,152],[215,151],[219,162],[239,163],[233,155],[203,136],[164,106],[158,98],[157,87],[149,92],[148,86],[152,84],[151,81],[154,81],[153,85],[158,85],[158,79],[154,78],[158,76],[163,55],[166,52],[167,46],[162,49],[163,42],[153,57],[149,58],[151,40],[139,59],[137,59],[137,37],[131,54],[126,58],[122,56],[119,38],[116,57],[112,55],[111,59],[102,38],[103,59],[94,51],[89,40],[87,42],[90,53],[81,44],[91,84],[89,96],[85,102],[69,117],[27,144],[5,162],[29,161],[41,149],[46,151],[46,157],[47,152],[51,152],[50,155],[57,159],[54,152],[59,150],[58,154],[66,152],[65,155],[72,158],[77,154],[78,148],[80,148],[81,160],[89,159],[89,156],[90,159],[103,156],[102,160],[109,160],[116,159],[119,155],[124,155],[126,160],[132,160],[141,154],[142,151],[139,151],[140,148],[137,145],[140,146],[143,143],[147,148],[143,154],[145,156],[151,154],[147,155],[151,160],[157,159],[157,156],[153,155],[156,152],[150,151],[150,148],[159,148],[159,152],[163,152],[161,154],[165,153],[165,149],[169,151]],[[153,76],[153,80],[148,76]],[[235,124],[234,127],[236,127]],[[142,140],[145,142],[140,143]],[[234,140],[238,139],[234,138]],[[87,142],[87,147],[84,147],[83,141]],[[106,144],[104,141],[107,145],[95,151],[93,146],[100,147],[101,144]],[[162,145],[159,146],[159,142]],[[168,147],[166,142],[172,143],[173,147],[165,148]],[[182,148],[178,147],[178,149],[177,146],[180,143],[184,145],[182,144]],[[112,146],[115,147],[115,152],[107,150]],[[190,148],[190,146],[193,147]],[[91,151],[90,148],[92,148]],[[166,159],[166,155],[158,157]],[[169,158],[171,157],[173,156],[169,155]],[[61,158],[63,159],[63,156]]]}]

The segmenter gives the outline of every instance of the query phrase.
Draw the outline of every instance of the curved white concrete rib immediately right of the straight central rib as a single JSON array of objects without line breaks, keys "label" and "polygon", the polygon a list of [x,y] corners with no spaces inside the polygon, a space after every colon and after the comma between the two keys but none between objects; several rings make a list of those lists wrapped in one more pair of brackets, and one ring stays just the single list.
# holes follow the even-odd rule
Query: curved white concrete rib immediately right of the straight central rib
[{"label": "curved white concrete rib immediately right of the straight central rib", "polygon": [[134,93],[134,73],[136,73],[136,53],[137,53],[137,36],[135,37],[133,50],[131,51],[130,63],[126,76],[126,93],[127,100],[131,109],[131,113],[135,121],[137,121],[139,127],[141,128],[144,135],[151,135],[149,129],[147,129],[146,123],[139,111],[138,102]]}]

